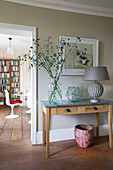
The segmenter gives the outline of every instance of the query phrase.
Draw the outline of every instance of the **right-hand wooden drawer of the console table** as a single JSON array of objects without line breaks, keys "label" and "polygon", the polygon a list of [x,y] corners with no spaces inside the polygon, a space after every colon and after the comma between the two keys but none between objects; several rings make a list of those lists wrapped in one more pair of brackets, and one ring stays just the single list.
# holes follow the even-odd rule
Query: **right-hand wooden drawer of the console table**
[{"label": "right-hand wooden drawer of the console table", "polygon": [[109,110],[108,105],[91,105],[91,106],[79,106],[79,113],[95,113],[95,112],[107,112]]}]

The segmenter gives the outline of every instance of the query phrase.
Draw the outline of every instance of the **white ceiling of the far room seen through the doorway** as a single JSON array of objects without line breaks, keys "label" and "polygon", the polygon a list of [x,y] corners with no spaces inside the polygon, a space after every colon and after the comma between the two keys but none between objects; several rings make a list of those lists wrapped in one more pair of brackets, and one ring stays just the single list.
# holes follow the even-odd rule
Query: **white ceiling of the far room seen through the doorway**
[{"label": "white ceiling of the far room seen through the doorway", "polygon": [[14,50],[29,50],[31,44],[31,32],[14,29],[0,28],[0,49],[6,50],[9,46],[9,37]]}]

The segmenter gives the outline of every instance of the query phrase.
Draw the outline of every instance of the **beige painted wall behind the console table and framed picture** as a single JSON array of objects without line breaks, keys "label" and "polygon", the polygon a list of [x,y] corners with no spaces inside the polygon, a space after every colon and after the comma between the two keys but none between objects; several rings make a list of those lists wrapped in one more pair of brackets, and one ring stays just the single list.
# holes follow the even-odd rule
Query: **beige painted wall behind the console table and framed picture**
[{"label": "beige painted wall behind the console table and framed picture", "polygon": [[[0,22],[38,27],[38,36],[43,41],[52,36],[55,43],[59,36],[80,36],[99,40],[99,65],[108,67],[109,81],[103,81],[105,87],[103,98],[113,99],[113,18],[76,14],[44,8],[30,7],[0,1]],[[49,77],[39,70],[39,101],[48,97]],[[87,87],[91,82],[83,81],[82,76],[61,77],[63,98],[68,86],[78,85],[83,91],[83,98],[89,97]],[[39,104],[39,130],[42,127],[42,115]],[[57,116],[51,119],[52,129],[74,127],[75,124],[95,125],[95,115]],[[106,113],[100,116],[100,124],[107,124]]]}]

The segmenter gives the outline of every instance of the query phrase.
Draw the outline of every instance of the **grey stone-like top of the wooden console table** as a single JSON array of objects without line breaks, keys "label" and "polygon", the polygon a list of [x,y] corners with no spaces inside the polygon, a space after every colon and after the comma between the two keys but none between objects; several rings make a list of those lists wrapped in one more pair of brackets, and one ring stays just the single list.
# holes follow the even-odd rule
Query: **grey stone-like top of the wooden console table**
[{"label": "grey stone-like top of the wooden console table", "polygon": [[41,104],[43,104],[45,107],[65,107],[65,106],[113,104],[113,101],[100,99],[97,103],[91,103],[90,99],[81,99],[77,102],[71,102],[69,100],[62,100],[60,104],[50,104],[48,101],[41,101]]}]

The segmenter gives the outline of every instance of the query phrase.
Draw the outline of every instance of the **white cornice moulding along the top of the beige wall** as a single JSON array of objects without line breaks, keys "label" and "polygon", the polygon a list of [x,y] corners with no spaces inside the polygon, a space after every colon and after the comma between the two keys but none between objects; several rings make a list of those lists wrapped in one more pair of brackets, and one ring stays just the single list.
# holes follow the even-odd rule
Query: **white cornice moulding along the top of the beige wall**
[{"label": "white cornice moulding along the top of the beige wall", "polygon": [[[30,6],[37,6],[42,8],[49,8],[54,10],[61,10],[61,11],[69,11],[81,14],[89,14],[89,15],[97,15],[97,16],[105,16],[105,17],[112,17],[113,18],[113,8],[109,5],[109,7],[91,5],[84,3],[77,3],[77,2],[70,2],[70,1],[53,1],[53,0],[5,0],[9,2],[30,5]],[[109,2],[108,2],[109,3]]]}]

